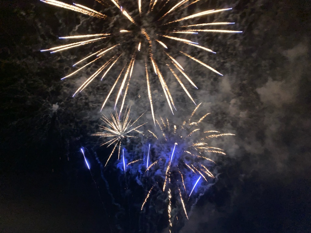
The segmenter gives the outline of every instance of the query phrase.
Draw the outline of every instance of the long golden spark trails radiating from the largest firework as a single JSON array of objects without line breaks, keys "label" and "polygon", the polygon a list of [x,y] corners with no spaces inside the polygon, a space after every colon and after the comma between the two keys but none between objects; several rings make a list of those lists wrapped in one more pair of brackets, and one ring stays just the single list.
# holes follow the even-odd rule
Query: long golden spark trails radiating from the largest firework
[{"label": "long golden spark trails radiating from the largest firework", "polygon": [[[56,0],[41,0],[44,3],[56,6],[56,7],[61,7],[61,8],[65,8],[68,10],[72,10],[72,11],[76,11],[79,12],[81,14],[85,14],[87,16],[91,16],[91,17],[95,17],[95,18],[99,18],[101,20],[105,20],[107,21],[107,24],[113,23],[114,21],[111,20],[111,18],[107,17],[106,15],[102,14],[99,11],[95,11],[89,7],[83,6],[81,4],[76,4],[74,3],[73,5],[69,5],[67,3],[64,2],[60,2],[60,1],[56,1]],[[110,0],[111,3],[118,7],[118,9],[120,10],[119,14],[121,15],[121,17],[126,18],[128,20],[128,24],[123,25],[123,29],[120,29],[119,32],[120,33],[125,33],[131,36],[132,39],[130,39],[130,41],[128,41],[127,39],[120,39],[120,35],[118,33],[115,32],[105,32],[105,33],[94,33],[94,34],[85,34],[85,35],[72,35],[72,36],[63,36],[63,37],[59,37],[59,39],[88,39],[91,37],[99,37],[99,38],[94,38],[94,39],[88,39],[88,40],[83,40],[83,41],[79,41],[79,42],[75,42],[75,43],[69,43],[69,44],[65,44],[65,45],[60,45],[60,46],[56,46],[50,49],[44,49],[41,50],[42,52],[44,51],[49,51],[51,53],[56,53],[56,52],[61,52],[70,48],[75,48],[75,47],[80,47],[82,45],[90,45],[91,43],[94,43],[94,47],[97,48],[98,46],[101,45],[97,45],[97,43],[95,44],[95,42],[99,42],[102,39],[106,38],[107,39],[107,44],[109,44],[109,47],[106,48],[102,48],[100,50],[98,50],[97,52],[91,53],[91,55],[88,55],[86,57],[84,57],[83,59],[81,59],[80,61],[76,62],[73,66],[76,66],[82,62],[85,62],[89,59],[91,59],[92,56],[96,56],[95,59],[93,59],[90,62],[87,62],[86,65],[83,65],[82,67],[78,68],[76,71],[73,71],[72,73],[70,73],[69,75],[66,75],[64,78],[65,79],[69,76],[72,76],[74,74],[77,74],[79,71],[81,71],[83,68],[86,68],[87,66],[90,66],[93,63],[98,63],[103,59],[103,55],[108,56],[108,59],[105,61],[109,61],[106,65],[108,66],[108,64],[110,64],[109,68],[105,71],[104,75],[102,76],[101,80],[104,78],[104,76],[111,71],[111,68],[118,63],[123,62],[123,64],[121,65],[116,65],[115,67],[122,67],[124,65],[124,59],[119,59],[120,57],[124,57],[125,54],[133,54],[131,56],[135,57],[136,53],[140,52],[142,54],[142,56],[145,59],[145,67],[146,67],[146,80],[147,80],[147,91],[148,91],[148,98],[150,101],[150,106],[151,106],[151,113],[152,113],[152,117],[153,117],[153,121],[154,123],[156,123],[155,121],[155,115],[154,115],[154,110],[153,110],[153,103],[152,103],[152,96],[151,96],[151,82],[153,83],[153,79],[156,78],[159,82],[160,85],[163,89],[163,92],[165,94],[165,98],[167,100],[167,103],[173,112],[173,108],[176,110],[174,102],[173,102],[173,97],[169,91],[169,88],[166,84],[166,80],[164,77],[164,73],[162,71],[163,67],[159,67],[157,61],[160,61],[160,57],[156,57],[154,53],[155,51],[153,50],[153,43],[160,43],[163,46],[163,49],[167,49],[168,46],[166,44],[167,41],[162,41],[160,40],[160,38],[167,38],[169,40],[175,40],[175,41],[179,41],[181,43],[184,43],[186,45],[189,46],[194,46],[196,48],[202,49],[203,51],[206,52],[211,52],[211,53],[215,53],[214,51],[212,51],[209,48],[203,47],[201,45],[198,45],[197,42],[193,42],[191,40],[185,39],[183,37],[175,37],[175,36],[170,36],[169,34],[197,34],[198,32],[217,32],[217,33],[240,33],[241,31],[237,31],[237,30],[225,30],[225,29],[197,29],[197,27],[206,27],[206,26],[211,26],[211,25],[215,25],[215,26],[221,26],[221,25],[232,25],[234,24],[233,22],[211,22],[211,23],[200,23],[200,24],[188,24],[188,25],[177,25],[175,24],[176,22],[179,21],[187,21],[189,19],[192,20],[197,20],[199,18],[201,18],[202,16],[207,16],[209,14],[216,14],[216,13],[220,13],[222,11],[228,11],[231,10],[232,8],[224,8],[224,9],[212,9],[212,10],[206,10],[206,11],[202,11],[199,13],[195,13],[192,15],[188,15],[185,17],[181,17],[178,19],[178,16],[182,15],[181,12],[183,12],[183,9],[186,7],[189,7],[190,5],[198,2],[199,0],[196,1],[189,1],[189,0],[180,0],[178,2],[170,2],[169,0],[167,1],[150,1],[150,2],[142,2],[141,0],[137,0],[137,11],[131,11],[128,12],[125,10],[124,7],[122,7],[120,4],[120,2],[116,1],[116,0]],[[102,0],[96,0],[96,2],[99,2],[101,5],[108,5],[106,2],[102,1]],[[187,3],[187,4],[186,4]],[[112,6],[113,6],[112,5]],[[159,12],[158,16],[155,15],[150,15],[147,12],[145,12],[143,9],[146,9],[146,7],[144,6],[148,6],[148,11],[157,11]],[[183,7],[182,7],[183,6]],[[160,15],[160,16],[159,16]],[[142,22],[145,22],[145,19],[148,19],[148,17],[154,17],[151,19],[151,21],[157,21],[156,25],[145,25]],[[177,18],[177,20],[176,20]],[[172,20],[174,19],[174,20]],[[164,26],[165,27],[161,27]],[[187,27],[187,29],[185,28]],[[192,27],[192,28],[190,28]],[[130,29],[131,28],[131,29]],[[150,28],[153,28],[153,30],[150,31]],[[165,29],[163,29],[165,28]],[[186,30],[180,30],[181,28],[185,28]],[[188,29],[189,28],[189,29]],[[130,30],[128,30],[130,29]],[[137,34],[141,34],[143,35],[143,37],[146,38],[146,40],[140,38],[139,36],[137,37]],[[119,41],[119,43],[115,43],[115,41]],[[113,43],[112,43],[113,42]],[[121,54],[120,54],[120,47],[121,45],[123,45],[123,43],[127,43],[127,42],[132,42],[132,44],[138,44],[138,49],[137,49],[137,45],[136,46],[129,46],[128,48],[124,47],[121,49]],[[165,42],[165,43],[164,43]],[[169,41],[168,41],[169,42]],[[118,52],[113,52],[113,50],[117,50],[115,48],[117,48],[118,46]],[[170,48],[174,48],[176,47],[175,43],[171,43],[169,44]],[[141,50],[141,48],[143,48],[143,51]],[[128,50],[128,51],[127,51]],[[184,68],[176,61],[176,59],[169,55],[168,53],[162,50],[159,50],[157,48],[158,51],[163,52],[164,54],[166,54],[168,56],[168,60],[170,62],[172,62],[172,64],[174,65],[174,67],[195,87],[196,85],[193,83],[193,81],[188,77],[188,75],[186,74],[186,72],[184,71]],[[129,52],[129,53],[124,53],[125,51]],[[183,52],[181,52],[183,53]],[[205,64],[202,61],[199,61],[197,58],[192,57],[186,53],[183,53],[184,55],[186,55],[188,58],[192,59],[193,61],[198,62],[199,64],[201,64],[202,66],[205,66],[206,68],[210,69],[213,72],[216,72],[219,75],[220,72],[216,71],[215,69],[213,69],[211,66],[208,66],[207,64]],[[110,57],[109,57],[110,56]],[[118,58],[116,58],[118,57]],[[113,62],[112,62],[113,60]],[[120,98],[120,95],[122,93],[122,90],[124,88],[124,86],[126,85],[126,81],[128,81],[127,85],[126,85],[126,90],[125,90],[125,94],[123,96],[123,101],[121,102],[122,107],[120,108],[121,110],[123,109],[123,106],[125,104],[125,98],[126,98],[126,94],[128,93],[128,91],[130,91],[130,78],[128,78],[128,69],[130,67],[131,71],[130,71],[130,76],[132,76],[132,71],[133,71],[133,67],[134,67],[134,61],[133,58],[131,58],[130,62],[127,62],[127,64],[124,65],[124,67],[128,66],[128,68],[125,68],[126,72],[125,72],[125,76],[123,77],[123,81],[121,82],[120,86],[118,87],[118,91],[117,91],[117,97],[116,97],[116,101],[115,101],[115,106],[118,104],[118,99]],[[103,62],[103,63],[105,63]],[[166,64],[168,64],[167,62],[165,62]],[[153,70],[155,71],[157,77],[155,77],[154,75],[151,76],[148,74],[148,70],[150,70],[149,66],[153,67]],[[104,69],[106,68],[106,66],[104,66],[103,64],[100,64],[99,67],[102,67],[101,69],[95,71],[93,73],[93,75],[91,75],[91,77],[89,77],[87,80],[87,83],[84,83],[82,86],[80,86],[78,88],[78,92],[82,91],[84,88],[86,88],[86,86],[88,86],[93,80],[95,80],[95,78],[102,72],[104,71]],[[191,95],[187,89],[187,87],[185,85],[183,85],[183,82],[181,81],[181,79],[179,78],[179,74],[176,73],[176,71],[173,70],[174,67],[169,67],[169,70],[173,73],[174,77],[176,77],[176,80],[179,82],[179,84],[181,85],[182,89],[185,91],[185,93],[189,96],[189,98],[194,102],[194,100],[191,98]],[[161,69],[160,69],[161,68]],[[174,68],[174,69],[175,69]],[[123,70],[120,72],[122,73]],[[109,92],[109,94],[107,95],[101,110],[103,109],[103,107],[105,106],[105,104],[107,103],[108,98],[110,97],[110,95],[113,93],[113,90],[115,89],[118,80],[120,77],[117,78],[117,80],[115,81],[114,85],[111,88],[111,91]],[[152,79],[152,80],[151,80]],[[76,92],[77,93],[77,92]],[[75,93],[75,94],[76,94]],[[119,113],[119,115],[121,115],[121,112]]]}]

